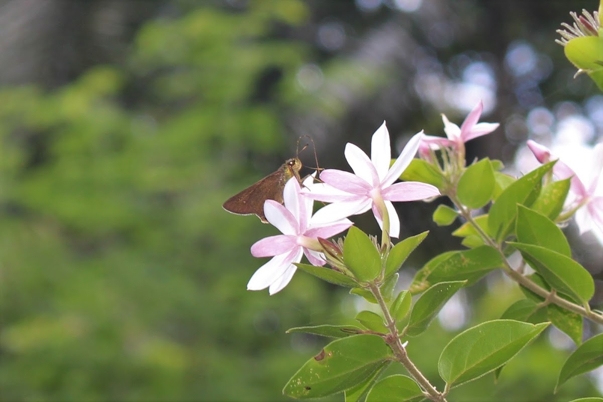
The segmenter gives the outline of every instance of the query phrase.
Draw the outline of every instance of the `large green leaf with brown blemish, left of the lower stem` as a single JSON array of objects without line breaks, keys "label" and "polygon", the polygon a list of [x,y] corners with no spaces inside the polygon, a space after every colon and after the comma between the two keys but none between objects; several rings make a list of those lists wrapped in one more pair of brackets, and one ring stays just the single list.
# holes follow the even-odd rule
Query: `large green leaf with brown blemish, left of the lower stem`
[{"label": "large green leaf with brown blemish, left of the lower stem", "polygon": [[378,335],[337,339],[301,366],[283,394],[300,399],[336,394],[361,383],[392,358],[390,347]]}]

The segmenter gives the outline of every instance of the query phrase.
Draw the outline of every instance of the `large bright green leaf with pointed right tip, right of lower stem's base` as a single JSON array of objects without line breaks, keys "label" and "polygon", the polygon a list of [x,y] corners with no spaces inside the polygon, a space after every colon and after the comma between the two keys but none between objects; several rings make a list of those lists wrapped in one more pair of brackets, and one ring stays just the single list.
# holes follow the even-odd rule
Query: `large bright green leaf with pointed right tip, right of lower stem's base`
[{"label": "large bright green leaf with pointed right tip, right of lower stem's base", "polygon": [[469,328],[444,347],[438,361],[440,377],[458,386],[488,374],[513,359],[549,324],[496,319]]}]

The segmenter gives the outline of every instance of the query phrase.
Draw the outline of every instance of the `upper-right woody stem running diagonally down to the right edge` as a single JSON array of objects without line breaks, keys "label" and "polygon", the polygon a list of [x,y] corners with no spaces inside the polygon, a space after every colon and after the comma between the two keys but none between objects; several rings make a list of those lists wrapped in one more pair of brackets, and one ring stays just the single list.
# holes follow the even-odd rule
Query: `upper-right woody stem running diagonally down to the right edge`
[{"label": "upper-right woody stem running diagonally down to the right edge", "polygon": [[467,222],[469,222],[469,224],[472,225],[473,228],[475,228],[482,240],[484,240],[484,242],[487,243],[490,247],[493,247],[496,251],[498,251],[504,262],[504,266],[502,267],[502,269],[508,277],[510,277],[512,280],[516,281],[526,289],[534,292],[538,296],[544,298],[545,300],[548,300],[549,303],[557,304],[557,306],[563,307],[566,310],[588,318],[590,319],[590,321],[596,322],[598,324],[603,324],[603,315],[593,312],[590,307],[586,308],[584,306],[579,306],[578,304],[572,303],[571,301],[561,298],[557,295],[557,292],[555,292],[555,290],[547,291],[546,289],[540,287],[537,283],[532,281],[530,278],[525,277],[520,272],[517,272],[515,269],[513,269],[513,267],[508,262],[507,256],[505,256],[504,251],[502,251],[501,246],[494,242],[494,240],[492,240],[490,236],[488,236],[488,234],[486,234],[484,230],[479,227],[479,225],[471,216],[471,213],[467,209],[465,209],[465,207],[461,203],[459,203],[458,199],[450,195],[449,197],[461,213],[461,216],[467,219]]}]

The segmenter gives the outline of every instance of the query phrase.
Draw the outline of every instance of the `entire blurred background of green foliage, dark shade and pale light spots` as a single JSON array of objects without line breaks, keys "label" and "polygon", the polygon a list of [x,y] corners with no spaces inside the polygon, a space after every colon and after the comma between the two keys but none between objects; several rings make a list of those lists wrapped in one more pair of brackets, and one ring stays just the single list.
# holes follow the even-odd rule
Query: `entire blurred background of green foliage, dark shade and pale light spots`
[{"label": "entire blurred background of green foliage, dark shade and pale light spots", "polygon": [[[512,169],[534,110],[603,110],[554,43],[569,11],[597,7],[0,1],[0,400],[287,400],[286,380],[326,340],[285,330],[349,322],[366,307],[304,273],[273,297],[245,291],[265,262],[250,245],[276,230],[224,212],[224,200],[294,155],[298,136],[312,136],[322,167],[347,169],[345,143],[368,151],[384,119],[400,150],[423,128],[441,134],[442,112],[460,124],[479,98],[483,120],[502,127],[472,142],[468,157]],[[301,157],[314,165],[311,151]],[[402,284],[459,247],[430,222],[434,209],[400,206],[403,236],[432,231]],[[377,233],[371,216],[354,220]],[[577,239],[575,228],[567,233]],[[601,303],[603,251],[588,242],[577,250]],[[518,295],[491,275],[453,300],[409,354],[441,389],[446,342]],[[586,325],[585,334],[600,330]],[[602,374],[552,394],[570,350],[549,331],[497,385],[487,375],[449,400],[601,395]]]}]

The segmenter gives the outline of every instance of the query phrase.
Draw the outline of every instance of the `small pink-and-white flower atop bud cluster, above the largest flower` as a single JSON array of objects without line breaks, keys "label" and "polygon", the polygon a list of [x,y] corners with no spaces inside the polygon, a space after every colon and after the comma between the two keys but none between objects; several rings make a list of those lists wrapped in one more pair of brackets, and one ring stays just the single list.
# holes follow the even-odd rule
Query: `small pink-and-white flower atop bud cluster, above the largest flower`
[{"label": "small pink-and-white flower atop bud cluster, above the largest flower", "polygon": [[484,104],[479,101],[473,110],[469,112],[469,115],[467,115],[467,118],[463,124],[461,124],[461,127],[451,123],[448,118],[446,118],[446,115],[442,114],[446,137],[423,136],[419,148],[421,155],[428,154],[429,149],[439,149],[444,146],[462,148],[467,141],[476,137],[485,136],[496,130],[499,126],[498,123],[478,123],[479,117],[482,115],[482,110],[484,110]]}]

